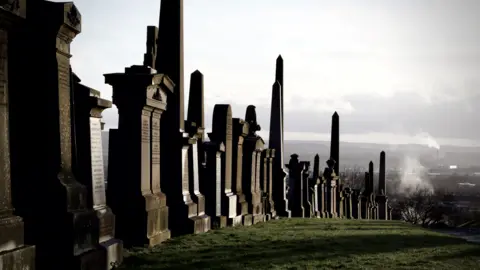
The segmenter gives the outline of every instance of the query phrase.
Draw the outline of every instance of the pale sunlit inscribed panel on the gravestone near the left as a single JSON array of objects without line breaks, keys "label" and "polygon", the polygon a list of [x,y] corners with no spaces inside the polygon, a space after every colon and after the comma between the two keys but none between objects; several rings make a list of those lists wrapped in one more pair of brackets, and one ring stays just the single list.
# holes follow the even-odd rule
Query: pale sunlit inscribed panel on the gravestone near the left
[{"label": "pale sunlit inscribed panel on the gravestone near the left", "polygon": [[92,193],[93,205],[106,204],[105,172],[102,152],[102,124],[100,118],[90,117],[90,149],[92,160]]}]

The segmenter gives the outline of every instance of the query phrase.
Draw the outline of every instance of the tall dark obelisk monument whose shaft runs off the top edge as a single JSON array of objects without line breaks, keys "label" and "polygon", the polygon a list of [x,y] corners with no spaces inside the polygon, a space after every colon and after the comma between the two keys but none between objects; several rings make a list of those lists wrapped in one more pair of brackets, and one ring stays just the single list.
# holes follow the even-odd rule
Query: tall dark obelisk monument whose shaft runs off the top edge
[{"label": "tall dark obelisk monument whose shaft runs off the top edge", "polygon": [[[168,110],[161,122],[162,188],[168,196],[172,234],[205,232],[210,227],[206,215],[199,216],[190,190],[189,148],[193,141],[185,133],[183,0],[160,2],[160,19],[155,69],[168,75],[175,84],[168,93]],[[201,209],[200,209],[201,210]]]}]

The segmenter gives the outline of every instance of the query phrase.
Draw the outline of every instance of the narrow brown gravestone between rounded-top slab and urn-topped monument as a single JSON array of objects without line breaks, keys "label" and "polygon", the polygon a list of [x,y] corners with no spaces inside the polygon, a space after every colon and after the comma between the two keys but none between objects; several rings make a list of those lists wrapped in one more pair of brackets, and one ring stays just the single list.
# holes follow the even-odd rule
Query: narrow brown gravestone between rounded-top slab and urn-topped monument
[{"label": "narrow brown gravestone between rounded-top slab and urn-topped monument", "polygon": [[250,226],[252,215],[248,213],[248,202],[243,192],[243,142],[249,133],[249,126],[239,118],[233,118],[232,122],[232,188],[237,195],[237,216],[242,216],[244,226]]}]

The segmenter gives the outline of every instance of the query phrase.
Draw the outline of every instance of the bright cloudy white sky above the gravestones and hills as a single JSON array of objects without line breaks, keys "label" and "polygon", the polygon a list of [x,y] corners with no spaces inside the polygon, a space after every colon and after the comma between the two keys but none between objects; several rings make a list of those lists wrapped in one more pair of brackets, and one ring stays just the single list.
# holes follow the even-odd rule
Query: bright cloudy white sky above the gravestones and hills
[{"label": "bright cloudy white sky above the gravestones and hills", "polygon": [[[160,1],[74,3],[72,68],[111,100],[103,74],[142,64]],[[215,104],[239,118],[253,104],[268,139],[281,54],[286,140],[328,140],[337,111],[342,141],[477,146],[478,14],[478,0],[184,0],[185,106],[198,69],[207,130]],[[115,128],[116,109],[103,115]]]}]

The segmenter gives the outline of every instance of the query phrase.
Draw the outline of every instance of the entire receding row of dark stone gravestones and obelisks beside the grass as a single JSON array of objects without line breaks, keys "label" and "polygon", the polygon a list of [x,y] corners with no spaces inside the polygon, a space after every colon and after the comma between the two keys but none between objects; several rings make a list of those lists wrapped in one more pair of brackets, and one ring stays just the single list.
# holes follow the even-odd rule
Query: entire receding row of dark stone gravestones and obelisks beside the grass
[{"label": "entire receding row of dark stone gravestones and obelisks beside the grass", "polygon": [[[242,120],[232,117],[229,105],[216,105],[207,141],[199,71],[191,76],[184,120],[182,4],[161,1],[160,27],[148,27],[143,65],[105,75],[119,113],[118,128],[110,130],[107,189],[102,111],[112,102],[71,70],[80,13],[73,3],[1,4],[0,269],[109,269],[121,263],[123,245],[153,246],[175,235],[312,210],[319,217],[342,216],[337,205],[348,205],[339,202],[350,193],[335,174],[336,113],[336,164],[308,182],[302,180],[309,178],[308,164],[292,158],[286,193],[281,57],[269,149],[256,134],[254,106]],[[317,192],[311,193],[313,182]],[[375,209],[379,200],[362,194]],[[354,216],[353,209],[345,213]],[[370,212],[359,217],[375,217]]]}]

